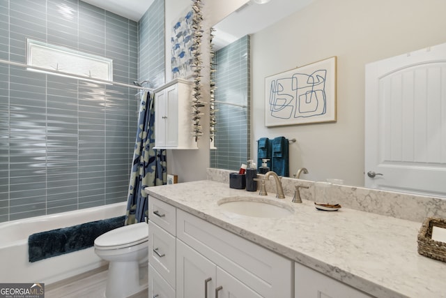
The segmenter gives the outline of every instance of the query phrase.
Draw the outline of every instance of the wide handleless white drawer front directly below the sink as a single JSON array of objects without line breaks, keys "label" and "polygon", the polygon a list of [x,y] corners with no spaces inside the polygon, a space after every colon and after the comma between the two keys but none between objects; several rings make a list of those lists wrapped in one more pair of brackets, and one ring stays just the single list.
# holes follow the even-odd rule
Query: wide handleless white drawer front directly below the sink
[{"label": "wide handleless white drawer front directly below the sink", "polygon": [[181,210],[177,237],[259,295],[293,296],[291,260]]}]

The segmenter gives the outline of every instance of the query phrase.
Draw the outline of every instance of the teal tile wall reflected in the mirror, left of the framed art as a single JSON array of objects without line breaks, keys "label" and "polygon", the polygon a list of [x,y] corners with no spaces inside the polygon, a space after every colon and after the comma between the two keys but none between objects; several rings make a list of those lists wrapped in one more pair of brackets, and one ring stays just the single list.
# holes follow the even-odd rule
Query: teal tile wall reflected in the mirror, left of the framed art
[{"label": "teal tile wall reflected in the mirror, left of the framed art", "polygon": [[238,170],[249,159],[250,131],[250,40],[245,36],[215,52],[217,89],[215,100],[245,105],[217,103],[215,147],[210,166]]}]

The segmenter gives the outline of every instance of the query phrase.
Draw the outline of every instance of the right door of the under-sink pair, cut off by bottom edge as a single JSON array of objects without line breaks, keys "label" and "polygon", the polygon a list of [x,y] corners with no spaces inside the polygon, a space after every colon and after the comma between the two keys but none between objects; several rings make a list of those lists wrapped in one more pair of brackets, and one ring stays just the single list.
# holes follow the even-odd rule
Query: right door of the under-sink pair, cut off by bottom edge
[{"label": "right door of the under-sink pair, cut off by bottom edge", "polygon": [[254,290],[244,283],[238,281],[229,273],[217,267],[217,287],[215,288],[215,298],[261,298]]}]

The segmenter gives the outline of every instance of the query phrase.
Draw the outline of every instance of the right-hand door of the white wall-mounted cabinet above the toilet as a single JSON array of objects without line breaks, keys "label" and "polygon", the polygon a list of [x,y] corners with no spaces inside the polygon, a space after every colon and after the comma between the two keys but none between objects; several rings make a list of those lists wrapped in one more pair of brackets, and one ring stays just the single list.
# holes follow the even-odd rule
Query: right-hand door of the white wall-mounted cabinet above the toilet
[{"label": "right-hand door of the white wall-mounted cabinet above the toilet", "polygon": [[178,147],[178,84],[167,87],[166,93],[166,147]]}]

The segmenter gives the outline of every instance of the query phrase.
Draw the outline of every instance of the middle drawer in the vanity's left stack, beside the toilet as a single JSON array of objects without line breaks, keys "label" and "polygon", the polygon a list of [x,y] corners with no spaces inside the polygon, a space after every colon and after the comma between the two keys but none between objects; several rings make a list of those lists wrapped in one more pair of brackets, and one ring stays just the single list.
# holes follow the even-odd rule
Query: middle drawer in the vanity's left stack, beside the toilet
[{"label": "middle drawer in the vanity's left stack, beside the toilet", "polygon": [[175,288],[175,237],[148,221],[148,262]]}]

